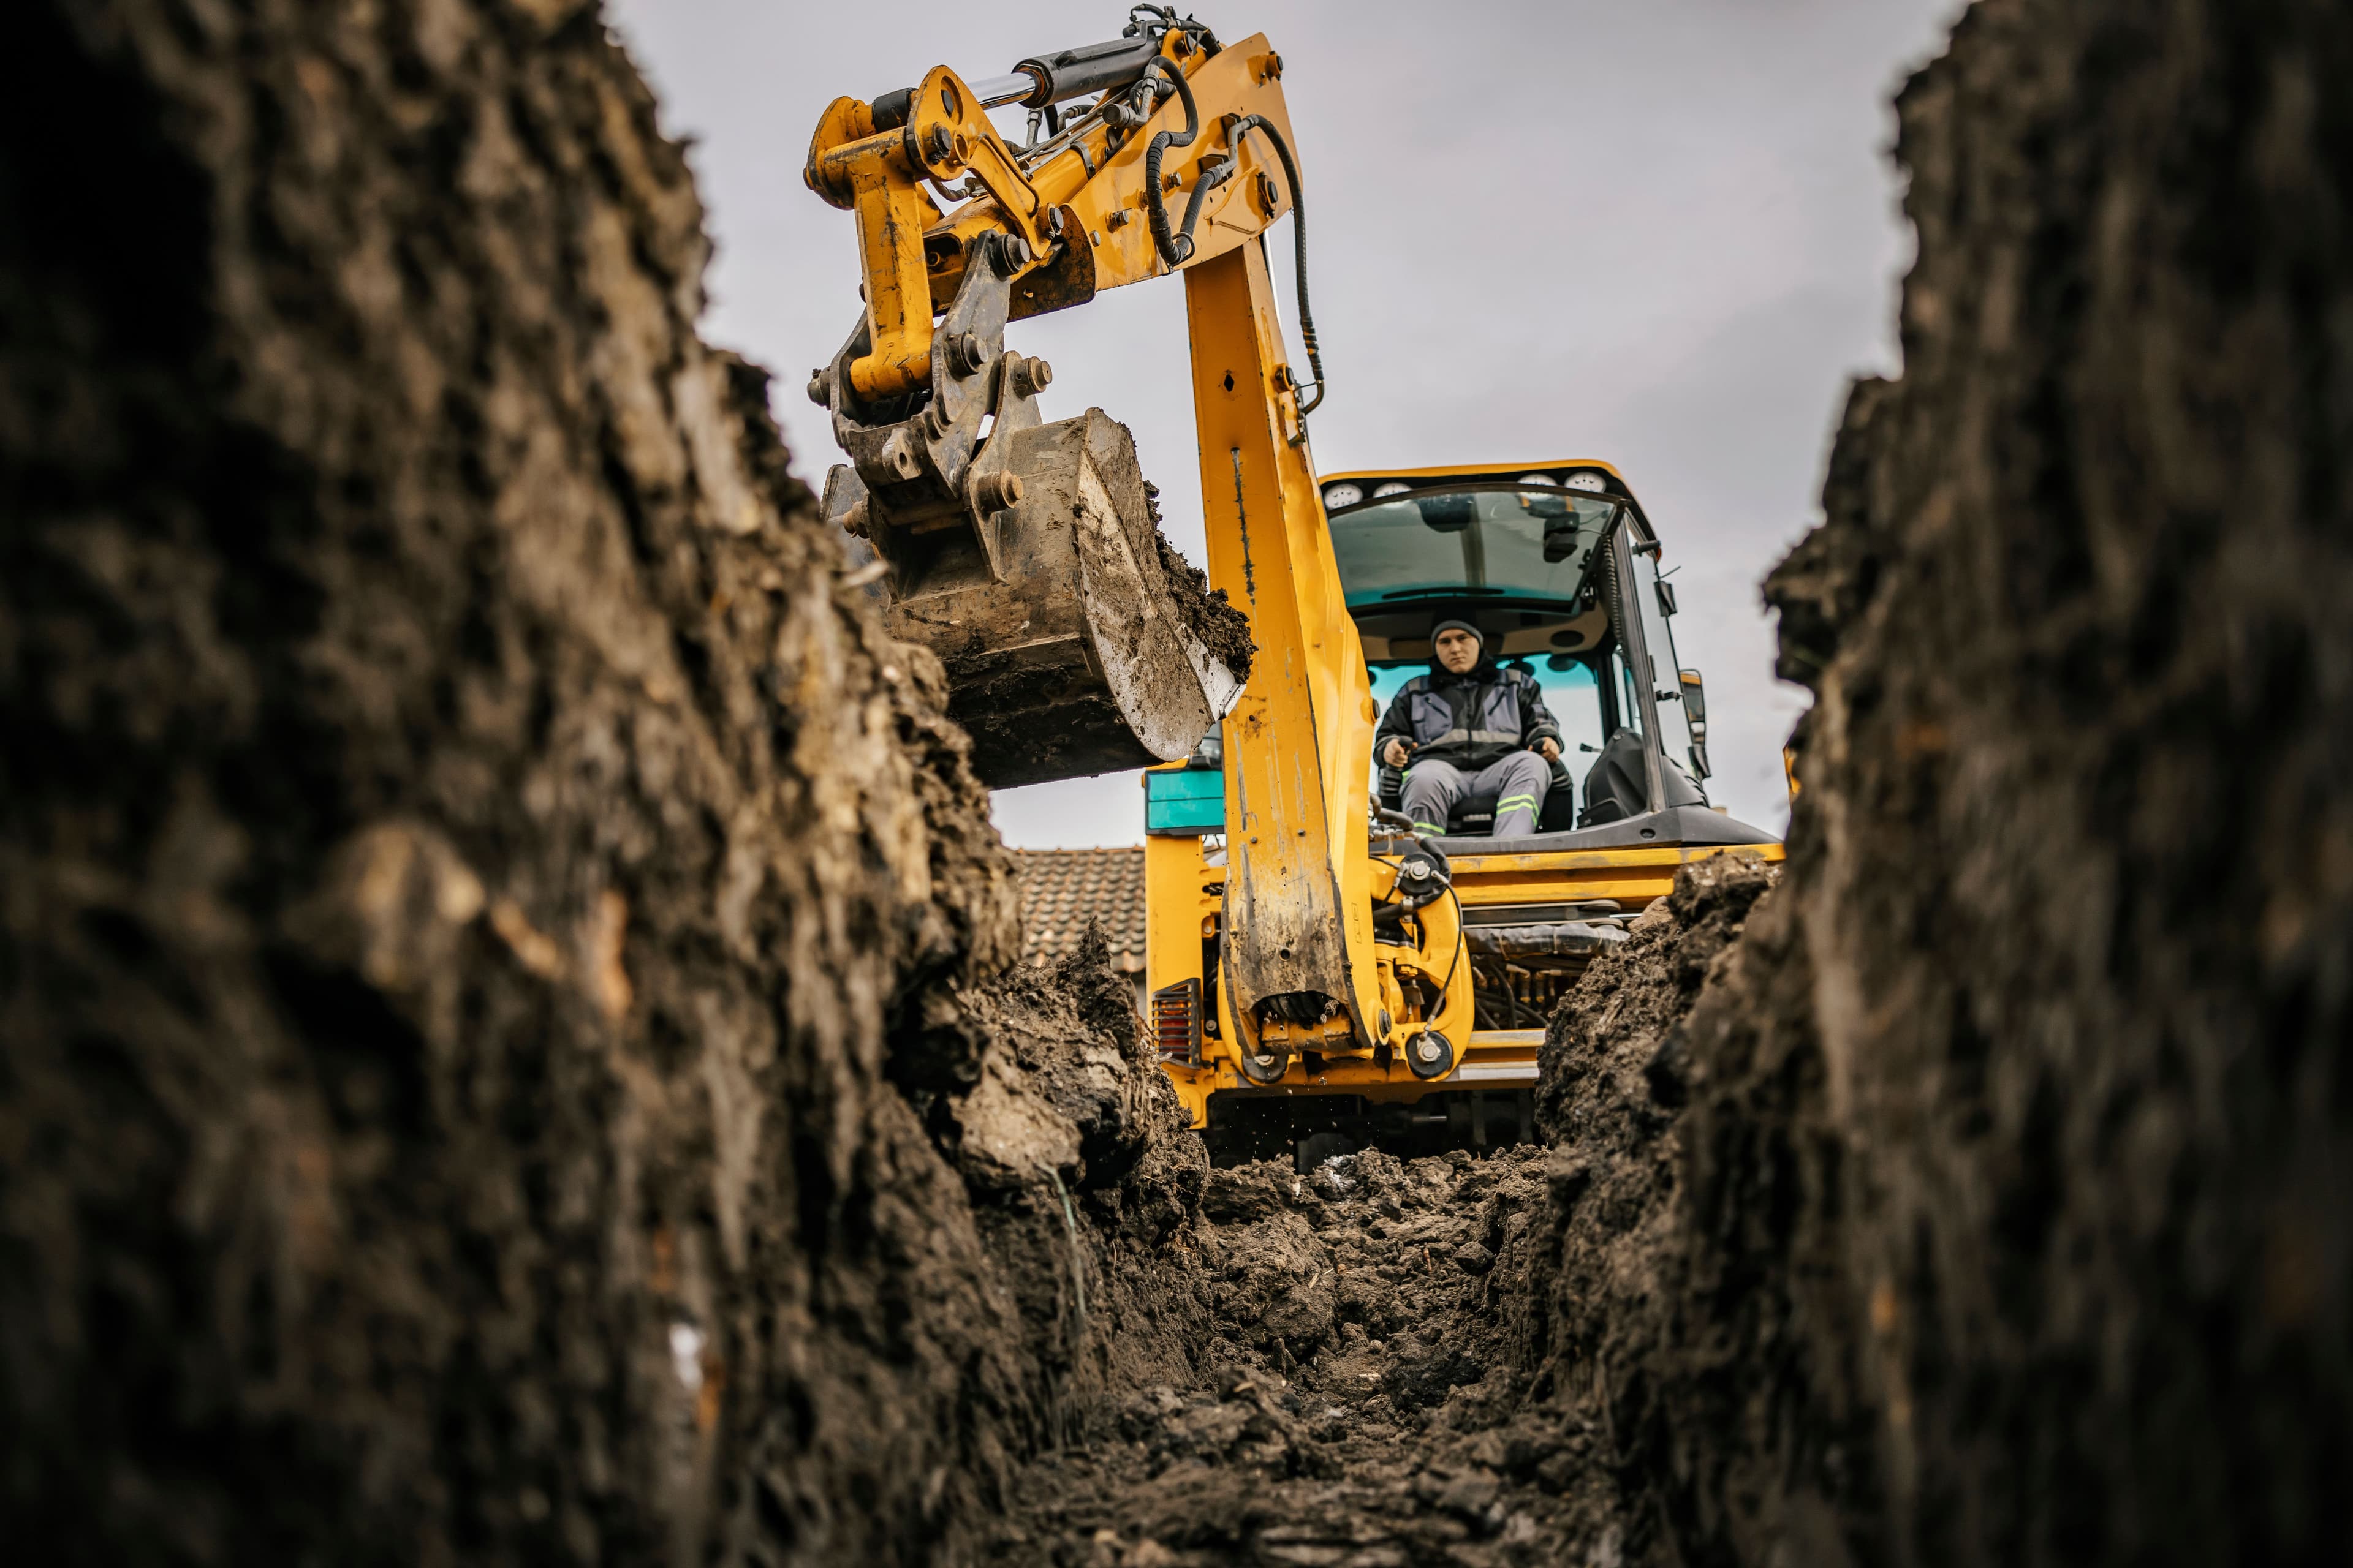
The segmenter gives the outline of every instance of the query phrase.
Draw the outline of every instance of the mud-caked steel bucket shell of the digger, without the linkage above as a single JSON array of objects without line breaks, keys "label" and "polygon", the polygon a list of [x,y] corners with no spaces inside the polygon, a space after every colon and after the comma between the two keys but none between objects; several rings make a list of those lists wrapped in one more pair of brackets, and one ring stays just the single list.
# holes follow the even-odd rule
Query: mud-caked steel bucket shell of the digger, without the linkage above
[{"label": "mud-caked steel bucket shell of the digger, without the linkage above", "polygon": [[[1016,425],[1021,407],[1005,402]],[[1009,501],[995,510],[896,524],[854,468],[828,475],[852,557],[885,562],[885,623],[946,665],[991,788],[1184,757],[1249,675],[1247,621],[1160,538],[1127,425],[998,423],[965,487]]]}]

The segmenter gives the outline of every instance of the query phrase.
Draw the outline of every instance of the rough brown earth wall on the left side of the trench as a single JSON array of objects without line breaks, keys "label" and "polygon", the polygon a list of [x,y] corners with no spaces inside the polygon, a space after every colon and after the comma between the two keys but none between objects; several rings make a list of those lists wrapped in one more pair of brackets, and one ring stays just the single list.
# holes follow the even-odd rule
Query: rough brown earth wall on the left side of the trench
[{"label": "rough brown earth wall on the left side of the trench", "polygon": [[699,216],[588,5],[12,16],[12,1537],[927,1561],[1052,1436],[941,1121],[1009,867]]}]

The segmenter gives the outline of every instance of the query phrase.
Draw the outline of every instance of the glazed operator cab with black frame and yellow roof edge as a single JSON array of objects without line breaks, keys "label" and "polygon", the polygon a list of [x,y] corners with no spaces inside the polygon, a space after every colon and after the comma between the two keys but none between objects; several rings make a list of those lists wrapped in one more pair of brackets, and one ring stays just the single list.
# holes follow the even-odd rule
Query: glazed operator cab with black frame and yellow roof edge
[{"label": "glazed operator cab with black frame and yellow roof edge", "polygon": [[[1468,797],[1442,849],[1527,853],[1760,844],[1774,835],[1708,806],[1706,689],[1675,661],[1675,588],[1659,538],[1607,463],[1433,468],[1322,482],[1348,614],[1386,710],[1431,668],[1431,628],[1468,621],[1497,665],[1532,677],[1560,724],[1534,837],[1482,837]],[[1374,762],[1395,809],[1402,778]]]}]

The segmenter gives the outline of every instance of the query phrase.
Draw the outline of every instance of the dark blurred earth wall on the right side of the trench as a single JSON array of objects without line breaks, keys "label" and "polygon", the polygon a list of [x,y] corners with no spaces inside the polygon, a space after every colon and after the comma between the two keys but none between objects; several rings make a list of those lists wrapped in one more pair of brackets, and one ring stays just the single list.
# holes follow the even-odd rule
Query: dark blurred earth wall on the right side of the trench
[{"label": "dark blurred earth wall on the right side of the trench", "polygon": [[1569,1182],[1532,1366],[1657,1561],[2341,1559],[2348,66],[2341,5],[1981,0],[1901,96],[1904,376],[1767,585],[1786,879],[1548,1046],[1657,1180]]}]

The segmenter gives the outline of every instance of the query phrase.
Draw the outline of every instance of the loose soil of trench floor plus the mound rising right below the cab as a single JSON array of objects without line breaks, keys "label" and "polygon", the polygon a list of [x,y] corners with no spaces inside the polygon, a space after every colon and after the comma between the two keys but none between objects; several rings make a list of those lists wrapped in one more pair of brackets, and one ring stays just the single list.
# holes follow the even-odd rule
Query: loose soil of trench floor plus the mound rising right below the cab
[{"label": "loose soil of trench floor plus the mound rising right below the cab", "polygon": [[1680,1206],[1685,1023],[1769,886],[1701,863],[1595,959],[1546,1034],[1541,1147],[1209,1171],[1158,1284],[1184,1356],[1101,1385],[1007,1488],[991,1561],[1673,1561],[1649,1479],[1708,1446],[1685,1422],[1741,1420],[1692,1399],[1720,1347],[1685,1307],[1708,1284]]}]

